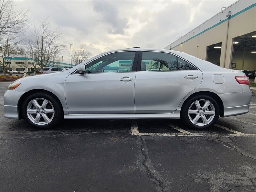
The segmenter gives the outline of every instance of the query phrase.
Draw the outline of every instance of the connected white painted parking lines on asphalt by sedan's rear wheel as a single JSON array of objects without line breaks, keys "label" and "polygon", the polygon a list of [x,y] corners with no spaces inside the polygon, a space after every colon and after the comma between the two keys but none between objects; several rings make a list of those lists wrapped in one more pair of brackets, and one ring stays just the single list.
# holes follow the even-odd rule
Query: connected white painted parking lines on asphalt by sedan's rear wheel
[{"label": "connected white painted parking lines on asphalt by sedan's rear wheel", "polygon": [[256,137],[256,133],[241,133],[238,131],[235,131],[233,129],[229,129],[227,127],[215,124],[215,126],[220,127],[222,129],[225,129],[227,131],[233,132],[233,133],[191,133],[184,129],[181,129],[180,127],[168,124],[172,128],[176,129],[177,131],[182,131],[181,133],[140,133],[138,129],[138,125],[136,121],[133,121],[131,124],[131,134],[136,136],[187,136],[187,137]]}]

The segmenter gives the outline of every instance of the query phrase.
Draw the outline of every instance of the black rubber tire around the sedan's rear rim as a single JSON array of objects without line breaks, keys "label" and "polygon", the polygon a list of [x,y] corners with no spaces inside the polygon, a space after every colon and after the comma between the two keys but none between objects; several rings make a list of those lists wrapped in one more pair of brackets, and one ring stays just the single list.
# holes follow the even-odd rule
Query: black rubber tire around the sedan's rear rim
[{"label": "black rubber tire around the sedan's rear rim", "polygon": [[[210,119],[210,117],[209,117],[210,123],[204,125],[203,120],[201,120],[201,121],[202,121],[202,125],[201,125],[201,126],[198,126],[198,125],[192,123],[192,121],[190,120],[191,116],[190,116],[190,118],[189,118],[188,110],[189,110],[190,106],[191,106],[194,102],[196,102],[197,100],[208,100],[208,101],[210,101],[210,102],[212,103],[212,105],[213,105],[213,107],[214,107],[214,109],[215,109],[215,115],[214,115],[214,117],[212,117],[211,119]],[[203,111],[203,110],[200,110],[200,113],[201,113],[202,111]],[[199,113],[199,114],[200,114],[200,113]],[[198,115],[199,115],[199,114],[198,114]],[[203,115],[203,114],[202,114],[202,115]],[[195,116],[196,116],[196,115],[195,115]],[[184,104],[184,106],[183,106],[182,109],[181,109],[181,118],[182,118],[182,120],[183,120],[183,121],[185,122],[185,124],[188,125],[190,128],[196,129],[196,130],[204,130],[204,129],[207,129],[207,128],[211,127],[212,125],[214,125],[214,124],[216,123],[216,121],[218,120],[219,116],[220,116],[220,107],[219,107],[217,101],[216,101],[214,98],[212,98],[211,96],[208,96],[208,95],[197,95],[197,96],[194,96],[194,97],[190,98],[188,101],[186,101],[186,103]],[[203,117],[203,116],[202,116],[202,117]],[[205,117],[206,117],[206,115],[205,115]],[[208,117],[208,116],[207,116],[207,117]],[[199,117],[199,118],[201,119],[201,117]]]}]

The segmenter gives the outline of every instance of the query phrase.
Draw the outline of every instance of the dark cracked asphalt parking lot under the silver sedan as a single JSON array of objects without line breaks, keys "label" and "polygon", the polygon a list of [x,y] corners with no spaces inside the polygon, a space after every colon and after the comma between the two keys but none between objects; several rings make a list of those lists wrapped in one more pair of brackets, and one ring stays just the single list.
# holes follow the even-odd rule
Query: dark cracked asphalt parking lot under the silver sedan
[{"label": "dark cracked asphalt parking lot under the silver sedan", "polygon": [[4,118],[0,191],[256,191],[256,96],[207,131],[181,120],[64,120],[36,130]]}]

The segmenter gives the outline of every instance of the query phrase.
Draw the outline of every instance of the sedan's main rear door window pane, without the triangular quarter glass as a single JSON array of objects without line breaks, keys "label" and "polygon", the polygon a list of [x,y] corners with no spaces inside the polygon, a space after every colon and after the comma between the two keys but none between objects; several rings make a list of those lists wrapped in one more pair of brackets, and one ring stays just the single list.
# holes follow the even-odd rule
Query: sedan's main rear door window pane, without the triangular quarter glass
[{"label": "sedan's main rear door window pane, without the triangular quarter glass", "polygon": [[142,52],[141,71],[176,71],[177,57],[161,52]]}]

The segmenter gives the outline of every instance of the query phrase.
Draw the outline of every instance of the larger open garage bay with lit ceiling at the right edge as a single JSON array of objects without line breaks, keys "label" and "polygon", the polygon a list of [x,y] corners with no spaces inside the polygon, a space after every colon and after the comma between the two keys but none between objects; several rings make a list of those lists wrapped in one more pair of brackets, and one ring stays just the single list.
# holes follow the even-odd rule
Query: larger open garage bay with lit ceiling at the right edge
[{"label": "larger open garage bay with lit ceiling at the right edge", "polygon": [[233,39],[231,69],[242,69],[249,78],[254,79],[256,69],[256,31]]}]

